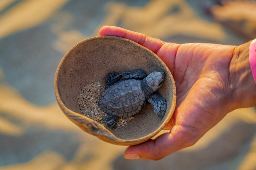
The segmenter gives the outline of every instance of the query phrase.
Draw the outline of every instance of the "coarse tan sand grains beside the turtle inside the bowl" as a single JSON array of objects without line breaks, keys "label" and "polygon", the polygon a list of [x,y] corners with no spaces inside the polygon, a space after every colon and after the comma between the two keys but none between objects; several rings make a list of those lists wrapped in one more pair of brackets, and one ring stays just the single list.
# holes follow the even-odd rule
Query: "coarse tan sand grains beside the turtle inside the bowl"
[{"label": "coarse tan sand grains beside the turtle inside the bowl", "polygon": [[127,122],[132,120],[134,117],[120,117],[118,119],[117,125],[114,128],[110,129],[106,123],[105,118],[107,113],[99,107],[99,100],[105,90],[106,86],[98,81],[86,84],[77,96],[77,101],[82,115],[92,120],[95,120],[102,126],[105,126],[107,129],[112,131],[119,129],[119,126],[125,126],[125,124],[127,124]]}]

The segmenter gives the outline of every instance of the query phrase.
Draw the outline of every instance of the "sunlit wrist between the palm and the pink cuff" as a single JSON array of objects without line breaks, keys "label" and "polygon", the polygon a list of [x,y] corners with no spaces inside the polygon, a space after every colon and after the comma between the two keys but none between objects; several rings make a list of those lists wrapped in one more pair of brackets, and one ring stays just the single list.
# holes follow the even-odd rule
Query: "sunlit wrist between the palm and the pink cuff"
[{"label": "sunlit wrist between the palm and the pink cuff", "polygon": [[256,105],[256,84],[249,64],[250,43],[237,46],[230,62],[230,89],[234,109]]}]

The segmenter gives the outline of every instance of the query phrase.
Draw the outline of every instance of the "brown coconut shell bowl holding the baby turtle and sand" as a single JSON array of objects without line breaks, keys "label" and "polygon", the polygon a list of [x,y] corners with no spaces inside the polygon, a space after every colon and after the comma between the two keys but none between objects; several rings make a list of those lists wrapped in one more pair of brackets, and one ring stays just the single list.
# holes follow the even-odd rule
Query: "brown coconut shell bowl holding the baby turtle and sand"
[{"label": "brown coconut shell bowl holding the baby turtle and sand", "polygon": [[[88,83],[105,84],[108,73],[142,69],[146,74],[164,71],[157,93],[166,99],[166,113],[159,118],[149,103],[134,119],[115,130],[82,115],[77,101]],[[115,145],[137,145],[155,136],[170,121],[176,106],[176,87],[164,62],[147,48],[128,39],[100,36],[86,39],[71,48],[62,58],[54,80],[55,96],[63,113],[83,131]]]}]

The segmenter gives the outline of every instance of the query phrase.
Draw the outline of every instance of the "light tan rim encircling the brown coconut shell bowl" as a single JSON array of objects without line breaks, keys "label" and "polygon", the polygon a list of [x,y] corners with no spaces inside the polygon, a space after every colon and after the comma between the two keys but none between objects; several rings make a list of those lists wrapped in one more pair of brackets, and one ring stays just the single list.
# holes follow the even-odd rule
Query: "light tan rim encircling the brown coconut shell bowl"
[{"label": "light tan rim encircling the brown coconut shell bowl", "polygon": [[[170,110],[168,112],[168,115],[166,116],[165,120],[163,121],[163,123],[153,132],[151,132],[150,134],[148,135],[145,135],[143,137],[140,137],[140,138],[136,138],[136,139],[121,139],[121,138],[118,138],[116,137],[111,131],[109,131],[108,129],[106,129],[104,126],[102,126],[100,123],[80,114],[80,113],[77,113],[77,112],[74,112],[72,111],[71,109],[68,109],[65,104],[61,101],[60,99],[60,96],[59,96],[59,91],[58,91],[58,76],[59,76],[59,70],[60,70],[60,67],[61,65],[63,64],[63,62],[65,61],[65,59],[67,58],[68,54],[74,49],[76,48],[79,44],[82,44],[86,41],[90,41],[92,39],[99,39],[99,38],[111,38],[111,39],[120,39],[120,40],[124,40],[124,41],[129,41],[129,42],[132,42],[132,43],[135,43],[135,45],[139,46],[140,48],[144,48],[146,49],[147,51],[149,51],[151,54],[153,54],[153,56],[155,56],[161,63],[162,65],[165,67],[166,71],[168,71],[168,74],[170,75],[170,78],[172,80],[172,86],[173,86],[173,95],[172,95],[172,104],[171,104],[171,107],[170,107]],[[174,110],[175,110],[175,107],[176,107],[176,86],[175,86],[175,82],[174,82],[174,78],[170,72],[170,70],[168,69],[168,67],[166,66],[166,64],[162,61],[162,59],[160,59],[154,52],[152,52],[151,50],[149,50],[148,48],[134,42],[134,41],[131,41],[129,39],[125,39],[125,38],[122,38],[122,37],[116,37],[116,36],[96,36],[96,37],[91,37],[91,38],[88,38],[88,39],[85,39],[83,41],[80,41],[79,43],[75,44],[64,56],[63,58],[61,59],[58,67],[57,67],[57,70],[56,70],[56,73],[55,73],[55,77],[54,77],[54,92],[55,92],[55,97],[56,97],[56,100],[57,100],[57,103],[59,105],[59,107],[61,108],[61,110],[63,111],[63,113],[73,122],[75,123],[77,126],[79,126],[79,128],[81,128],[83,131],[86,131],[87,133],[90,133],[91,135],[94,135],[98,138],[100,138],[101,140],[103,141],[106,141],[108,143],[112,143],[112,144],[116,144],[116,145],[137,145],[139,143],[143,143],[149,139],[151,139],[152,137],[154,137],[157,133],[159,133],[163,128],[164,126],[166,126],[166,124],[171,120],[171,117],[172,115],[174,114]],[[90,125],[87,125],[86,126],[91,126],[91,127],[86,127],[83,125],[82,122],[77,122],[77,119],[75,120],[74,117],[80,117],[80,119],[86,119],[88,122],[91,122],[92,124]],[[81,127],[82,126],[82,127]],[[96,126],[96,127],[95,127]],[[92,129],[90,129],[92,128]],[[102,128],[102,131],[95,131],[93,132],[93,128]],[[100,129],[97,129],[97,130],[100,130]],[[101,133],[109,133],[108,135],[106,136],[102,136]]]}]

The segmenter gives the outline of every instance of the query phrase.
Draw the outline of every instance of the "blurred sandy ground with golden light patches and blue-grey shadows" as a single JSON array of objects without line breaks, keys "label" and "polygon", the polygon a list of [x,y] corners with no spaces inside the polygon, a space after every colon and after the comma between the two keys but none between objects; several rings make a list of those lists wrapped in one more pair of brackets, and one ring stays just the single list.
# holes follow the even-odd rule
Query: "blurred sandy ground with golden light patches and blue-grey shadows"
[{"label": "blurred sandy ground with golden light patches and blue-grey shadows", "polygon": [[[59,109],[53,79],[79,41],[116,25],[163,41],[239,45],[256,37],[255,1],[0,0],[0,170],[256,169],[256,111],[229,113],[160,161],[88,135]],[[213,6],[214,5],[214,6]]]}]

